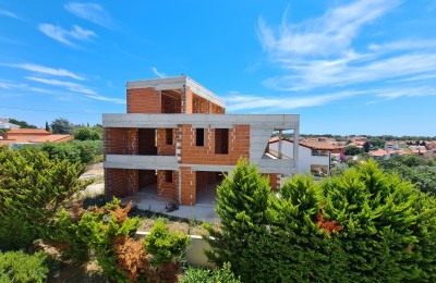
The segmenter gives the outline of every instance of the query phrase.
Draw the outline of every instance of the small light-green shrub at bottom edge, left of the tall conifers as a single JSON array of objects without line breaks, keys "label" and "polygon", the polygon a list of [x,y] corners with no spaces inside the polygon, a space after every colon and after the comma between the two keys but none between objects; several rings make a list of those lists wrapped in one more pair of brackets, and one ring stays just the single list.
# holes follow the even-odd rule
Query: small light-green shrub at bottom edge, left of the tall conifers
[{"label": "small light-green shrub at bottom edge, left of the tall conifers", "polygon": [[221,269],[203,269],[190,267],[180,283],[239,283],[241,282],[230,270],[230,263],[225,263]]}]

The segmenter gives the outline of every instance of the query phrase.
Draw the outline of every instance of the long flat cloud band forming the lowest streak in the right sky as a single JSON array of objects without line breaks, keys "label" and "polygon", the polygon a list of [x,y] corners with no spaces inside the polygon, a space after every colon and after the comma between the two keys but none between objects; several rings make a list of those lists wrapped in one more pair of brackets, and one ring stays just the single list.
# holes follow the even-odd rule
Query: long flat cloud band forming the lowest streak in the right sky
[{"label": "long flat cloud band forming the lowest streak in the right sky", "polygon": [[275,89],[296,91],[324,86],[349,86],[436,72],[436,52],[407,53],[387,59],[363,60],[363,62],[360,60],[363,59],[308,60],[305,63],[294,65],[291,75],[267,78],[264,84]]}]

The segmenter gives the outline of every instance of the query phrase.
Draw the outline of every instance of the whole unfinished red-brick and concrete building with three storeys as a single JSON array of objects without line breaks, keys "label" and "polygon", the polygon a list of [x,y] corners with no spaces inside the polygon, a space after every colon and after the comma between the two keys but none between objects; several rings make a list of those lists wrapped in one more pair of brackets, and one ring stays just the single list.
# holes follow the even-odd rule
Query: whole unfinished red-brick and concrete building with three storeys
[{"label": "whole unfinished red-brick and concrete building with three storeys", "polygon": [[102,115],[108,198],[149,188],[194,206],[240,158],[257,163],[272,187],[298,171],[298,148],[294,159],[265,151],[274,131],[299,138],[299,115],[225,114],[221,98],[183,75],[128,82],[126,100],[126,114]]}]

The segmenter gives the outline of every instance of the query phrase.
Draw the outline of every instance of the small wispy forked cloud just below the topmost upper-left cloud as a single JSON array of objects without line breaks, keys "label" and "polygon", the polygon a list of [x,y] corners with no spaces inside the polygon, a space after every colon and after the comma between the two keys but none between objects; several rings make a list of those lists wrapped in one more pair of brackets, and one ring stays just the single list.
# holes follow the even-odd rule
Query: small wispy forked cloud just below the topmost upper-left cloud
[{"label": "small wispy forked cloud just below the topmost upper-left cloud", "polygon": [[51,24],[40,24],[38,28],[46,36],[72,47],[76,46],[72,42],[72,39],[88,40],[90,37],[96,36],[93,30],[84,29],[77,25],[74,25],[71,30],[65,30],[61,26]]}]

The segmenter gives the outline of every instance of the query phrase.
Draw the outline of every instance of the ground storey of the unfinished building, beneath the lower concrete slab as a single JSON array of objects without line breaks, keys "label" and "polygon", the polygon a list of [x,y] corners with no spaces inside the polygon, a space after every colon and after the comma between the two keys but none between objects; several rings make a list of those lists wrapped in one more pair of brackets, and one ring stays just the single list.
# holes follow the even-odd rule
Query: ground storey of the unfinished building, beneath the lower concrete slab
[{"label": "ground storey of the unfinished building, beneath the lower concrete slab", "polygon": [[[161,200],[167,205],[173,202],[178,206],[214,206],[217,186],[228,173],[193,170],[186,167],[181,167],[179,170],[106,168],[105,194],[107,198],[137,195],[137,199],[144,200],[148,197],[150,200]],[[265,175],[269,177],[271,188],[277,189],[280,184],[280,174]],[[155,205],[153,202],[153,206]]]}]

